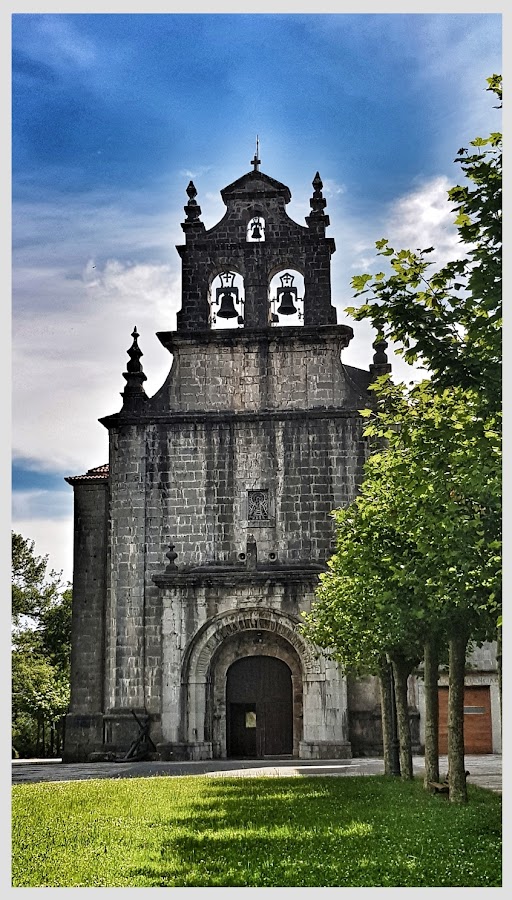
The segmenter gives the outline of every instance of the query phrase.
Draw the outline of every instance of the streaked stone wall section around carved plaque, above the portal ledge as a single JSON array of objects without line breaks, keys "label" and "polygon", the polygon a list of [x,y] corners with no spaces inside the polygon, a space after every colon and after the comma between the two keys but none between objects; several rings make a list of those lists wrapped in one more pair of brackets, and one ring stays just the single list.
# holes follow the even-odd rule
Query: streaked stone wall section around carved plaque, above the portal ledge
[{"label": "streaked stone wall section around carved plaque, above the portal ledge", "polygon": [[[325,562],[331,511],[355,495],[365,454],[347,417],[267,418],[148,426],[148,563],[236,563],[253,533],[260,561]],[[248,518],[248,493],[268,496],[268,518]],[[271,556],[272,554],[272,556]]]}]

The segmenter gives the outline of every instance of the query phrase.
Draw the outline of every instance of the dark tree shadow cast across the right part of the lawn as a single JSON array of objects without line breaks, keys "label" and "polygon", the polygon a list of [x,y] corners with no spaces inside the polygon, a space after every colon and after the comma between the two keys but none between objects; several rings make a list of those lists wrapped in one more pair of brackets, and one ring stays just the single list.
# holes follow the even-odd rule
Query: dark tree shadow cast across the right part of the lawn
[{"label": "dark tree shadow cast across the right part of the lawn", "polygon": [[419,780],[205,779],[192,814],[133,881],[147,886],[499,886],[500,819],[486,792],[471,804]]}]

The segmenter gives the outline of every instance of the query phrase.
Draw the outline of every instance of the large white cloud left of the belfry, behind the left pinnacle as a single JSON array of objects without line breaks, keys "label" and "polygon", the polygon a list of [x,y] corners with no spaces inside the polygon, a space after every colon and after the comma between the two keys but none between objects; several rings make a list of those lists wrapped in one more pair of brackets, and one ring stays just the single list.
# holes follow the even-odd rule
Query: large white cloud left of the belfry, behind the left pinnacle
[{"label": "large white cloud left of the belfry, behind the left pinnacle", "polygon": [[161,386],[171,357],[155,332],[175,328],[179,308],[170,267],[113,259],[93,265],[73,283],[72,304],[69,282],[53,273],[54,308],[29,309],[13,323],[13,455],[66,475],[108,459],[98,418],[121,408],[135,325],[146,392],[152,396]]}]

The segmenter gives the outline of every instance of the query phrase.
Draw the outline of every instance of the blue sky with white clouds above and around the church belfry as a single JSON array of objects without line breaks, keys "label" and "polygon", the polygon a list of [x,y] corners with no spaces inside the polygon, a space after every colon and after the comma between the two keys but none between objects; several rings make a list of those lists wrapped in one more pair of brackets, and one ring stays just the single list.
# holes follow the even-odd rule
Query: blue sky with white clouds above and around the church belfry
[{"label": "blue sky with white clouds above and around the church belfry", "polygon": [[381,237],[433,245],[439,264],[456,255],[454,156],[501,128],[485,91],[502,71],[492,4],[485,14],[89,8],[12,19],[12,527],[65,578],[64,477],[108,460],[98,418],[120,408],[134,324],[149,394],[170,367],[155,333],[175,327],[189,180],[211,227],[258,135],[261,170],[290,187],[288,213],[304,224],[320,172],[333,302],[355,331],[344,359],[367,368],[373,335],[343,311],[351,277],[372,270]]}]

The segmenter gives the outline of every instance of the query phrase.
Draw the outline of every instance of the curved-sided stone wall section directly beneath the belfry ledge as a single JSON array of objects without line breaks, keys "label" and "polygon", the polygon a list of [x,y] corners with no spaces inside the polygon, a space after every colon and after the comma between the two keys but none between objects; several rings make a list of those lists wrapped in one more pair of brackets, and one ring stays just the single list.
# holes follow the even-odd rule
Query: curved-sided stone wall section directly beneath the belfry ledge
[{"label": "curved-sided stone wall section directly beneath the belfry ledge", "polygon": [[364,392],[341,364],[351,336],[342,325],[207,331],[193,339],[159,332],[173,368],[148,411],[351,408]]}]

